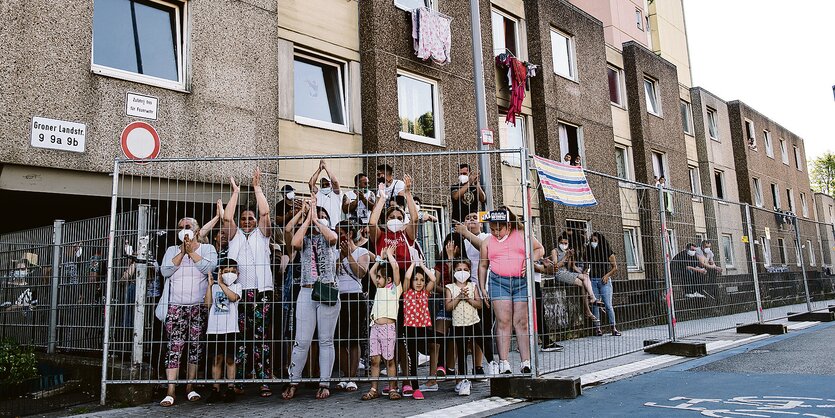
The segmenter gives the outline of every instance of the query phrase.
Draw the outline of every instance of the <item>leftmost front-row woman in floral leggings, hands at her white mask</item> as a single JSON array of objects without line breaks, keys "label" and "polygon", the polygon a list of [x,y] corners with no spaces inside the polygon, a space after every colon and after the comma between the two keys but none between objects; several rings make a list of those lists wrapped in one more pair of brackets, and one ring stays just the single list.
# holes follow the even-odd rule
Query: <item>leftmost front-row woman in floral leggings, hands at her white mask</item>
[{"label": "leftmost front-row woman in floral leggings, hands at her white mask", "polygon": [[[201,244],[196,239],[200,225],[194,218],[183,218],[177,223],[177,237],[181,245],[172,245],[165,251],[160,268],[162,276],[168,280],[168,311],[165,317],[165,333],[168,335],[168,355],[165,359],[165,375],[168,380],[176,380],[180,371],[180,357],[188,345],[187,377],[197,378],[197,364],[203,354],[200,338],[206,319],[206,306],[203,298],[209,286],[208,274],[217,265],[217,252],[209,244]],[[161,406],[174,405],[173,383],[168,385],[168,393],[160,402]],[[189,401],[199,401],[200,394],[192,385],[186,385]]]}]

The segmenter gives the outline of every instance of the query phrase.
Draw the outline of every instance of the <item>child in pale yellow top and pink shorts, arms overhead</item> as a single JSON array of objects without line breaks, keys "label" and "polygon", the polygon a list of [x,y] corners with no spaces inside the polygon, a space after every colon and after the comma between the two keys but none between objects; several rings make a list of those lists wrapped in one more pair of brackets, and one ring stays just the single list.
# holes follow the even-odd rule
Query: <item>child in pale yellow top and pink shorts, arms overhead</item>
[{"label": "child in pale yellow top and pink shorts, arms overhead", "polygon": [[[397,366],[394,362],[394,347],[397,343],[397,308],[400,294],[403,288],[400,286],[400,270],[397,268],[397,259],[394,258],[395,246],[390,245],[383,253],[385,260],[377,259],[369,271],[369,276],[377,293],[374,295],[374,307],[371,308],[371,330],[369,330],[369,351],[371,354],[371,389],[362,400],[367,401],[380,397],[377,391],[377,380],[380,377],[380,358],[386,360],[388,377],[397,376]],[[385,264],[385,265],[383,265]],[[389,399],[400,399],[397,392],[397,381],[392,380],[390,385]]]}]

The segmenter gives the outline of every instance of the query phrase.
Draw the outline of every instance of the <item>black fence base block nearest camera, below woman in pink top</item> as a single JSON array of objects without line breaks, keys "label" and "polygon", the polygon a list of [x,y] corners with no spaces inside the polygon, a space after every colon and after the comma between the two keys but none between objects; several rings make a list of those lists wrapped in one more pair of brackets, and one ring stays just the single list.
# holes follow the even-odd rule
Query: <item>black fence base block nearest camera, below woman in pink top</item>
[{"label": "black fence base block nearest camera, below woman in pink top", "polygon": [[581,393],[579,377],[490,379],[490,395],[503,398],[574,399]]}]

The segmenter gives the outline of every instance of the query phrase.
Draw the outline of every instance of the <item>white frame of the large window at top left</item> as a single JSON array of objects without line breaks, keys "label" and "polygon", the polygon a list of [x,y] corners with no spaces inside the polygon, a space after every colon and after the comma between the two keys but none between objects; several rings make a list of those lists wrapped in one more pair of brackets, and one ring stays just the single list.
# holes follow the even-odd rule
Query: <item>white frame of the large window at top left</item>
[{"label": "white frame of the large window at top left", "polygon": [[[96,64],[96,47],[95,47],[95,33],[90,37],[90,71],[93,74],[118,78],[121,80],[132,81],[134,83],[146,84],[149,86],[161,87],[168,90],[176,90],[181,92],[188,92],[190,88],[190,71],[191,71],[191,28],[189,25],[189,1],[179,0],[145,0],[150,3],[156,3],[175,11],[175,47],[177,60],[177,78],[178,81],[172,81],[160,77],[144,75],[135,73],[133,71],[121,70],[114,67],[108,67],[103,64]],[[95,8],[95,0],[93,1]],[[91,29],[91,32],[95,28]]]}]

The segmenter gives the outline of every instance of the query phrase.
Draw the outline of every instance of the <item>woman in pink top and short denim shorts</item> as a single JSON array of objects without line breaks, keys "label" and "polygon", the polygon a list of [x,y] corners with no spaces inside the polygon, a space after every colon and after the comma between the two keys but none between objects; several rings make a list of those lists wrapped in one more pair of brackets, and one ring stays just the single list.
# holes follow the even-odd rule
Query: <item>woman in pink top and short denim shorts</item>
[{"label": "woman in pink top and short denim shorts", "polygon": [[[528,280],[526,276],[525,236],[519,232],[516,215],[507,207],[489,214],[491,236],[481,244],[478,281],[482,289],[488,289],[484,298],[492,304],[496,316],[496,345],[499,349],[499,373],[511,373],[510,334],[516,332],[519,354],[522,357],[520,371],[531,372],[531,346],[528,334]],[[532,261],[545,254],[542,244],[533,239]],[[487,271],[490,284],[487,286]]]}]

